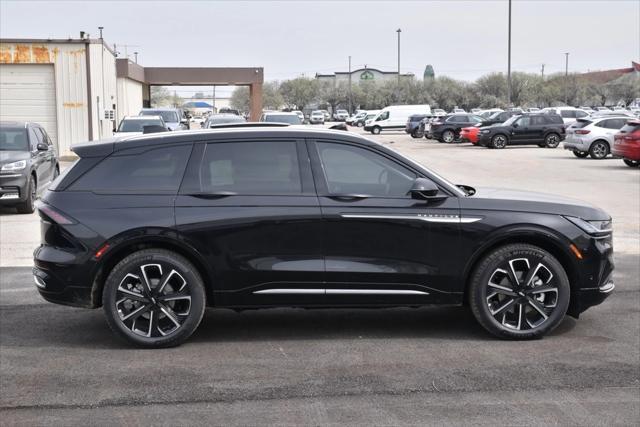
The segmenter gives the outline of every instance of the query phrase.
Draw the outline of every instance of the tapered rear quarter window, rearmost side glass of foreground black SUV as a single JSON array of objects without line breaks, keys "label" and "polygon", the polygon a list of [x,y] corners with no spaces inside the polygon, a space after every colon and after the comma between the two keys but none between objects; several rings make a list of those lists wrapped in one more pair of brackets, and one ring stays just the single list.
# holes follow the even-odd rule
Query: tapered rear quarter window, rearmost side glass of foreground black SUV
[{"label": "tapered rear quarter window, rearmost side glass of foreground black SUV", "polygon": [[127,154],[124,150],[107,157],[84,174],[72,191],[105,194],[177,193],[191,153],[191,145],[154,148]]}]

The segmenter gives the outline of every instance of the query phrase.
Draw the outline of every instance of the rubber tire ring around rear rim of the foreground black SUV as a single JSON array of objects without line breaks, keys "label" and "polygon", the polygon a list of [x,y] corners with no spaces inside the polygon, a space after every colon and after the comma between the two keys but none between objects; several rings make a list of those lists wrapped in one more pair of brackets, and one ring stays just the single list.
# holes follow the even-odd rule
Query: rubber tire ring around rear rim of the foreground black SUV
[{"label": "rubber tire ring around rear rim of the foreground black SUV", "polygon": [[[133,267],[153,263],[171,264],[185,278],[191,295],[191,308],[189,317],[178,331],[166,337],[145,338],[133,333],[120,321],[115,307],[116,291]],[[184,257],[163,249],[145,249],[127,256],[111,270],[104,284],[102,303],[107,322],[119,337],[140,347],[171,347],[184,342],[196,330],[204,315],[206,295],[200,275]]]}]

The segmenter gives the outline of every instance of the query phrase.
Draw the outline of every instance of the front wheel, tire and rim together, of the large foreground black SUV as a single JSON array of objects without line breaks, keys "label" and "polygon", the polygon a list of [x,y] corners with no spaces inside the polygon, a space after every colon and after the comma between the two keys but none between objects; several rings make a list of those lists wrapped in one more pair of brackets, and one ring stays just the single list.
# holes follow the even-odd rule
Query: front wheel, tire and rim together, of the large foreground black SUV
[{"label": "front wheel, tire and rim together, of the large foreground black SUV", "polygon": [[[515,286],[514,283],[517,283]],[[567,274],[549,252],[529,244],[495,249],[473,271],[473,315],[500,338],[540,338],[555,329],[570,298]]]}]

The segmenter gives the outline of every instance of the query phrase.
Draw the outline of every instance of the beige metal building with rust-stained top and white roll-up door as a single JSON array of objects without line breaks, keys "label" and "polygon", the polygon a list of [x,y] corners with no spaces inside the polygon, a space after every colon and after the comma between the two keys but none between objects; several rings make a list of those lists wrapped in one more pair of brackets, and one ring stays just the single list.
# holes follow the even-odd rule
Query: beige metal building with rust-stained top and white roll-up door
[{"label": "beige metal building with rust-stained top and white roll-up door", "polygon": [[112,135],[116,57],[99,39],[0,39],[0,121],[45,127],[61,156]]}]

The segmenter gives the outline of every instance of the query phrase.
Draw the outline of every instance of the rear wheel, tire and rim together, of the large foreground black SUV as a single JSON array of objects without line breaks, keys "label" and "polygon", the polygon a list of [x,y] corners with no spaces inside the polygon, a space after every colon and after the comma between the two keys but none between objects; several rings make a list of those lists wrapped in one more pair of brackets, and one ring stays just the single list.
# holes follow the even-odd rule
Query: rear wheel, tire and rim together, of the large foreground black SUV
[{"label": "rear wheel, tire and rim together, of the large foreground black SUV", "polygon": [[145,249],[111,270],[102,302],[118,337],[139,347],[160,348],[180,345],[191,336],[204,315],[206,296],[202,278],[186,258],[165,249]]}]

